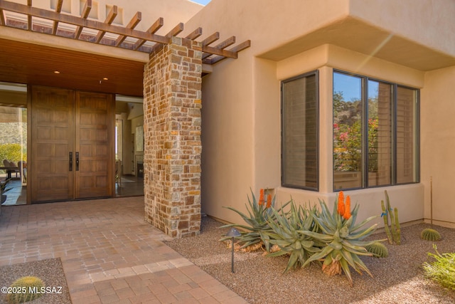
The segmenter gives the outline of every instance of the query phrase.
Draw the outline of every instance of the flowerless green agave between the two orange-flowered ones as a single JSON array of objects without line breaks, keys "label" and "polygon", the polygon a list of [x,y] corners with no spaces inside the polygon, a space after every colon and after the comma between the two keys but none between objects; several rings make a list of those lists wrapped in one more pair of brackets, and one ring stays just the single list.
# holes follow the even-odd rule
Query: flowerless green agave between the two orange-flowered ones
[{"label": "flowerless green agave between the two orange-flowered ones", "polygon": [[279,214],[272,209],[272,216],[269,216],[269,226],[271,230],[264,231],[269,236],[269,243],[277,245],[279,250],[269,253],[267,256],[283,256],[289,254],[289,261],[284,272],[291,268],[303,266],[305,261],[314,253],[321,251],[319,246],[323,243],[314,241],[311,236],[302,234],[299,231],[316,231],[317,226],[311,213],[316,210],[304,209],[302,206],[296,207],[291,201],[291,210],[288,214],[281,211]]}]

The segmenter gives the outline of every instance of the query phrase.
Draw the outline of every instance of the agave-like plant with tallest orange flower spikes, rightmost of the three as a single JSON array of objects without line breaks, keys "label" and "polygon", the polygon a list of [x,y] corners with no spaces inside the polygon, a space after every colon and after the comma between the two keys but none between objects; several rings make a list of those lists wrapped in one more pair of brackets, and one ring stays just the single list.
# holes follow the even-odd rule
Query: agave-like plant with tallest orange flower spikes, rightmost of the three
[{"label": "agave-like plant with tallest orange flower spikes, rightmost of the three", "polygon": [[365,271],[373,276],[359,256],[373,256],[365,249],[365,246],[378,241],[385,241],[362,241],[375,231],[377,224],[367,229],[362,229],[362,227],[376,216],[371,216],[360,224],[355,224],[359,205],[356,204],[354,209],[350,211],[350,198],[347,197],[345,205],[342,192],[336,199],[332,212],[328,210],[324,201],[319,200],[319,203],[321,204],[321,211],[315,214],[314,221],[321,232],[301,230],[299,233],[311,236],[315,241],[324,243],[325,246],[319,253],[308,258],[303,266],[312,261],[323,260],[322,270],[324,273],[329,275],[341,274],[341,270],[343,270],[350,285],[353,285],[353,279],[350,275],[349,266],[358,273]]}]

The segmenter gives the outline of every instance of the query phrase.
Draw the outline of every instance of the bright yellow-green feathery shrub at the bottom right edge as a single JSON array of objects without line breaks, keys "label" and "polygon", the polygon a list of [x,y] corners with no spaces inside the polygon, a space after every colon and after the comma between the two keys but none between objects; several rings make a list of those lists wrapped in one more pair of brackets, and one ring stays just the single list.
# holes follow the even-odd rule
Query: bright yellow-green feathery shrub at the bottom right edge
[{"label": "bright yellow-green feathery shrub at the bottom right edge", "polygon": [[428,253],[434,258],[432,263],[423,264],[425,276],[440,285],[455,290],[455,253],[439,253],[433,245],[434,253]]}]

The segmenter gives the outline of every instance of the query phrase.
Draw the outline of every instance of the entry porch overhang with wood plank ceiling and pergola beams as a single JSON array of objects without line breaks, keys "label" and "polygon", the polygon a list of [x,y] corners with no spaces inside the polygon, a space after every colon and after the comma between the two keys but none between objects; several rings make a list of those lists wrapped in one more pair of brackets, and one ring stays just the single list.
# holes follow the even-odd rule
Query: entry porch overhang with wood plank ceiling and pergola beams
[{"label": "entry porch overhang with wood plank ceiling and pergola beams", "polygon": [[[163,18],[147,31],[138,31],[139,11],[126,26],[118,26],[114,22],[120,11],[117,6],[112,6],[105,21],[91,19],[92,0],[85,2],[80,16],[63,12],[63,0],[56,1],[54,10],[33,7],[31,0],[27,3],[0,0],[0,82],[141,97],[144,63],[149,57],[144,55],[183,32],[183,23],[178,23],[160,35]],[[216,43],[218,32],[201,36],[202,28],[196,28],[181,38],[201,43],[207,70],[226,58],[237,58],[250,46],[249,40],[236,44],[234,36]],[[91,48],[92,44],[97,47]]]}]

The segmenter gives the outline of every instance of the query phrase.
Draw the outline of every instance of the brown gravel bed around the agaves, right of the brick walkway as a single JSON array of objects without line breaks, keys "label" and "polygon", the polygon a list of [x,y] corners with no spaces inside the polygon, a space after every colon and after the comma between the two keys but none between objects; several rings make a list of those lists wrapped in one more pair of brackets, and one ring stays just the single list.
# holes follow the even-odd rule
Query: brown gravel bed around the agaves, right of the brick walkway
[{"label": "brown gravel bed around the agaves, right of the brick walkway", "polygon": [[[285,257],[262,256],[262,251],[235,253],[231,273],[230,248],[218,241],[228,229],[219,221],[203,216],[199,236],[166,242],[249,303],[455,303],[455,292],[424,278],[422,263],[433,261],[433,243],[420,239],[428,224],[402,227],[402,245],[389,245],[387,258],[363,257],[373,274],[351,270],[354,285],[346,276],[327,276],[320,266],[311,265],[283,273]],[[440,253],[455,252],[455,230],[434,226],[443,239],[435,242]],[[385,233],[373,239],[386,239]]]}]

